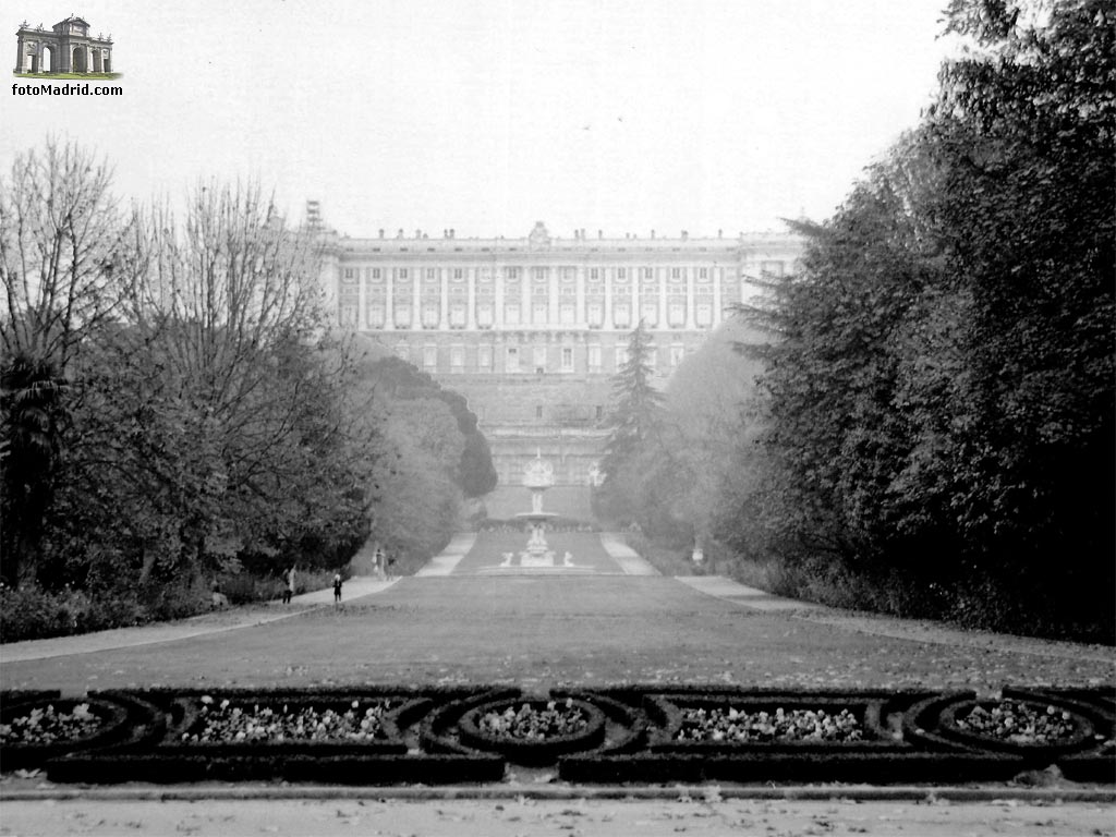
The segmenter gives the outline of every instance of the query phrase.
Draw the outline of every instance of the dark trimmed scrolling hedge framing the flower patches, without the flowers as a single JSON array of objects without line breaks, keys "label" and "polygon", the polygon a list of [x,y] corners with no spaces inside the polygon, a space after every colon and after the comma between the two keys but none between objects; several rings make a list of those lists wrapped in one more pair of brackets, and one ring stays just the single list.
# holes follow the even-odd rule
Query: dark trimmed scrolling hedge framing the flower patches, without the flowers
[{"label": "dark trimmed scrolling hedge framing the flower patches, without the flowers", "polygon": [[[377,737],[331,741],[186,742],[203,695],[232,704],[348,711],[352,702],[389,701]],[[57,693],[7,692],[0,718],[54,703]],[[587,729],[542,741],[494,735],[478,727],[489,711],[527,702],[573,700]],[[1006,689],[1004,700],[1069,713],[1069,740],[1016,743],[973,734],[956,718],[978,701],[972,692],[925,690],[749,690],[733,686],[635,685],[555,691],[382,686],[315,690],[152,689],[90,693],[106,723],[96,733],[51,744],[8,745],[4,770],[45,767],[58,782],[292,781],[344,785],[496,782],[508,761],[557,763],[571,782],[911,782],[1008,781],[1058,764],[1067,779],[1116,782],[1116,701],[1101,690]],[[812,709],[856,718],[854,741],[680,741],[687,708],[742,712]],[[360,709],[360,708],[358,708]]]}]

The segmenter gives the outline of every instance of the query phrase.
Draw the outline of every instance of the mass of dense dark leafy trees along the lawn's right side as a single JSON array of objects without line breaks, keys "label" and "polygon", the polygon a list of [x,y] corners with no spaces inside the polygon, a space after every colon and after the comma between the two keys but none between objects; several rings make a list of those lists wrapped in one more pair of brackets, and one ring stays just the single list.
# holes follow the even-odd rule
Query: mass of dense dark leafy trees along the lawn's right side
[{"label": "mass of dense dark leafy trees along the lawn's right side", "polygon": [[830,221],[796,224],[801,271],[751,309],[778,335],[767,517],[815,576],[902,587],[893,610],[1105,636],[1113,21],[1089,0],[1040,11],[954,2],[978,51]]}]

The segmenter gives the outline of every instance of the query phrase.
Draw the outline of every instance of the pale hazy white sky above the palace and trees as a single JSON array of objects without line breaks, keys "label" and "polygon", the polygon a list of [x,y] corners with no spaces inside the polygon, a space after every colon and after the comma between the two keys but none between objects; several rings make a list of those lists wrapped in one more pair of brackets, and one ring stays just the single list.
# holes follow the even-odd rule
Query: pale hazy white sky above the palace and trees
[{"label": "pale hazy white sky above the palace and trees", "polygon": [[0,166],[57,134],[124,196],[257,177],[352,235],[778,229],[830,215],[916,123],[944,4],[8,0],[9,70],[22,20],[76,13],[112,33],[125,93],[0,89]]}]

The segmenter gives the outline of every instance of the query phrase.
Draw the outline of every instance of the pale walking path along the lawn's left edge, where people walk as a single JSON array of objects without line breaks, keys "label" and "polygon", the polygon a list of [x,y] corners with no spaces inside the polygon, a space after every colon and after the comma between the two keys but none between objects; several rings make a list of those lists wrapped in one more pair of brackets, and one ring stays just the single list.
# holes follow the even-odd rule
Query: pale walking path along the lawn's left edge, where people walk
[{"label": "pale walking path along the lawn's left edge, where people walk", "polygon": [[[395,584],[395,580],[382,581],[377,578],[367,577],[350,578],[345,583],[344,597],[346,602],[350,602],[355,598],[386,590],[393,584]],[[189,619],[162,622],[154,625],[97,631],[92,634],[80,634],[78,636],[56,636],[50,639],[27,639],[18,643],[6,643],[0,645],[0,662],[18,663],[26,660],[48,660],[70,654],[92,654],[98,651],[112,651],[113,648],[129,648],[136,645],[174,642],[175,639],[187,639],[192,636],[201,636],[203,634],[219,634],[224,631],[237,631],[254,625],[279,622],[280,619],[289,619],[291,616],[298,616],[308,610],[331,605],[333,602],[333,587],[327,587],[324,590],[314,590],[312,593],[304,593],[295,596],[289,605],[283,605],[279,602],[269,602],[262,605],[215,610],[193,616]]]}]

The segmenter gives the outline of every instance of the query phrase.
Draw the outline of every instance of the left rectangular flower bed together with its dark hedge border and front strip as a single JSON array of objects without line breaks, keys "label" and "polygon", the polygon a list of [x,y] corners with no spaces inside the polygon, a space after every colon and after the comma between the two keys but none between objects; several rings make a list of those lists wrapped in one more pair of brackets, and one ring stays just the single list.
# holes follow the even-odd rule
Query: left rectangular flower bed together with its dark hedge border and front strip
[{"label": "left rectangular flower bed together with its dark hedge border and front strip", "polygon": [[497,781],[502,760],[421,753],[417,734],[403,731],[439,704],[475,692],[491,694],[478,689],[151,690],[142,694],[171,719],[162,741],[58,758],[47,776],[98,783]]}]

